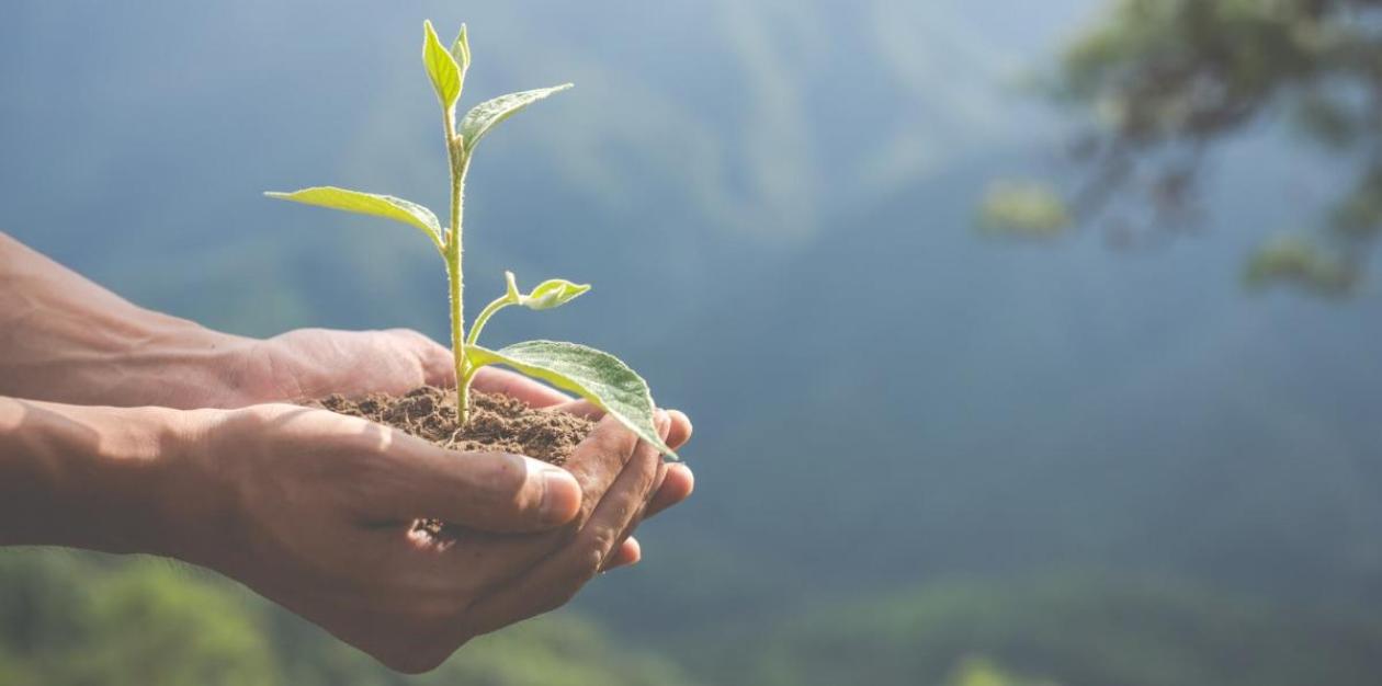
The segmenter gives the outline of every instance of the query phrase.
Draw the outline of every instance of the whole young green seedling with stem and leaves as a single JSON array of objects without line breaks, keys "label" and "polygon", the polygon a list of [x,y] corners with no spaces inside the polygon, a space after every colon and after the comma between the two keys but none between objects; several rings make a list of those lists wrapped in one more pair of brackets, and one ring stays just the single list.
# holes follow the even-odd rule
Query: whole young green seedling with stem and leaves
[{"label": "whole young green seedling with stem and leaves", "polygon": [[386,217],[416,226],[427,235],[446,265],[451,293],[451,346],[456,366],[456,411],[462,425],[470,417],[470,382],[475,378],[475,371],[486,364],[503,364],[590,400],[629,427],[643,440],[656,446],[665,454],[676,457],[676,453],[658,438],[652,422],[654,404],[648,384],[614,355],[585,345],[557,341],[528,341],[498,351],[482,348],[478,344],[480,331],[484,330],[489,317],[500,309],[510,305],[521,305],[528,309],[557,308],[586,293],[590,286],[551,279],[524,294],[518,290],[513,272],[504,272],[504,294],[480,312],[470,327],[470,334],[466,335],[462,210],[466,173],[470,171],[475,145],[500,121],[547,95],[569,88],[571,84],[500,95],[471,108],[457,124],[456,104],[466,81],[466,70],[470,69],[470,43],[466,26],[460,26],[460,35],[452,41],[451,48],[446,48],[437,37],[431,22],[423,22],[423,66],[426,66],[433,90],[437,91],[437,99],[441,102],[442,131],[446,137],[446,156],[451,160],[451,222],[445,228],[431,210],[387,195],[362,193],[334,186],[265,195],[304,204]]}]

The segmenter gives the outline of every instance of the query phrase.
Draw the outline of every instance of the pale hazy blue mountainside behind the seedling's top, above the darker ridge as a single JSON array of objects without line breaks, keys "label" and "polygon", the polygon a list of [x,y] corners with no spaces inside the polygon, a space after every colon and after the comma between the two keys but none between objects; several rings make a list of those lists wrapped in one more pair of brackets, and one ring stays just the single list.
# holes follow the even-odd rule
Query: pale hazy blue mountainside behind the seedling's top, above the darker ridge
[{"label": "pale hazy blue mountainside behind the seedling's top, above the darker ridge", "polygon": [[[0,28],[4,226],[142,302],[249,333],[442,333],[416,236],[258,193],[339,184],[442,206],[416,44],[422,17],[466,19],[467,102],[578,84],[480,152],[471,282],[498,290],[503,266],[593,280],[608,295],[545,330],[623,322],[596,342],[637,340],[625,313],[705,311],[720,276],[791,254],[919,170],[1024,135],[994,86],[1053,39],[1016,28],[1072,14],[999,3],[1010,29],[994,32],[958,1],[815,4],[22,3]],[[55,54],[58,36],[80,47]]]}]

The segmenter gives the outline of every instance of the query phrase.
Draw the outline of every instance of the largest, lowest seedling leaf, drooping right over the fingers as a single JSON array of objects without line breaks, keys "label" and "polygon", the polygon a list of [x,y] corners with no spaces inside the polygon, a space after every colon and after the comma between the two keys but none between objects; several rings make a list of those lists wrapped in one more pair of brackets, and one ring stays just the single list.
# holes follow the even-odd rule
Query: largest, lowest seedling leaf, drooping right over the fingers
[{"label": "largest, lowest seedling leaf, drooping right over the fingers", "polygon": [[470,345],[466,356],[475,369],[503,364],[571,391],[619,420],[640,439],[680,460],[658,438],[648,382],[614,355],[569,342],[528,341],[499,351]]}]

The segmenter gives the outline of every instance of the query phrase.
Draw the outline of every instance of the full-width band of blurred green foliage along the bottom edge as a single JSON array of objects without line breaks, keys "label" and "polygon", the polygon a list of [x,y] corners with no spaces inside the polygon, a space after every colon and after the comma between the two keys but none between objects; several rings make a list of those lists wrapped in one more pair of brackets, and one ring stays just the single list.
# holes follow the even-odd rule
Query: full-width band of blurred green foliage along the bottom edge
[{"label": "full-width band of blurred green foliage along the bottom edge", "polygon": [[[659,592],[683,592],[663,587]],[[760,686],[1371,686],[1382,621],[1154,577],[933,582],[716,625],[669,653]],[[163,560],[0,551],[0,683],[685,686],[684,668],[564,611],[390,672],[245,588]]]}]

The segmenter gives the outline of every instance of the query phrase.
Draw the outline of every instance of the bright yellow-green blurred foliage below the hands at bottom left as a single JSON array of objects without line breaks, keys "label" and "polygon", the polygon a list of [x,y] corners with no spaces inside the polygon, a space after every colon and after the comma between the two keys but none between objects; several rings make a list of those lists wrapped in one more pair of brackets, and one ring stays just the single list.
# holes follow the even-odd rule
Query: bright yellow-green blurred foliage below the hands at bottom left
[{"label": "bright yellow-green blurred foliage below the hands at bottom left", "polygon": [[668,660],[562,613],[409,678],[243,587],[152,559],[0,551],[0,685],[685,686]]}]

